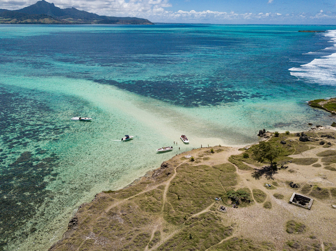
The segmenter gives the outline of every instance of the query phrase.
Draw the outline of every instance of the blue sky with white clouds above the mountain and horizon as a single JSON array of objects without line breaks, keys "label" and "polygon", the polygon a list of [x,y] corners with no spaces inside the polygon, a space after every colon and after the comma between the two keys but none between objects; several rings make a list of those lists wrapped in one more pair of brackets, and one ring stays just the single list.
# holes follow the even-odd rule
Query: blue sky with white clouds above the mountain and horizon
[{"label": "blue sky with white clouds above the mountain and horizon", "polygon": [[[60,8],[152,22],[221,24],[336,24],[336,0],[46,0]],[[37,0],[0,0],[20,9]]]}]

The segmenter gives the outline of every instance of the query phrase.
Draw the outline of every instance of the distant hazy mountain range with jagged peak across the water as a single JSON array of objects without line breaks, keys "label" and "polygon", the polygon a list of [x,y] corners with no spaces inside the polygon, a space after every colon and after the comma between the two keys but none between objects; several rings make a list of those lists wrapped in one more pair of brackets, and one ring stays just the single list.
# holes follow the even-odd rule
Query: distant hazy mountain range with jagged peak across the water
[{"label": "distant hazy mountain range with jagged peak across the water", "polygon": [[138,17],[100,16],[74,7],[61,9],[44,0],[18,10],[0,9],[0,23],[22,24],[154,24]]}]

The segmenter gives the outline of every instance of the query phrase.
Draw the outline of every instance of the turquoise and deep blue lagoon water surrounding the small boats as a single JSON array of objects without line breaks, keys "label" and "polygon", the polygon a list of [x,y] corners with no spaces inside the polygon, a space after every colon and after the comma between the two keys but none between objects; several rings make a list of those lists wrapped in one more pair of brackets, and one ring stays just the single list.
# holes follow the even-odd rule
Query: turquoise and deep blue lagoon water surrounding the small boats
[{"label": "turquoise and deep blue lagoon water surrounding the small boats", "polygon": [[201,144],[330,125],[306,101],[335,96],[334,30],[0,25],[0,250],[47,250],[81,203]]}]

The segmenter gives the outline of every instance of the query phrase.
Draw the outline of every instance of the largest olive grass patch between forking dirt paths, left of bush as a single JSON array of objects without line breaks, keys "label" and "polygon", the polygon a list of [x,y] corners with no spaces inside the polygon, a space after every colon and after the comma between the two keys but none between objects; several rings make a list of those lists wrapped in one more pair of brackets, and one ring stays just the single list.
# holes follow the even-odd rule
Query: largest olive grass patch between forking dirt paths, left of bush
[{"label": "largest olive grass patch between forking dirt paths, left of bush", "polygon": [[[230,164],[189,165],[187,168],[177,168],[177,174],[172,180],[165,204],[164,218],[172,224],[184,222],[188,217],[208,207],[214,198],[221,197],[226,202],[226,190],[238,183],[236,168]],[[177,197],[180,196],[180,199]]]}]

